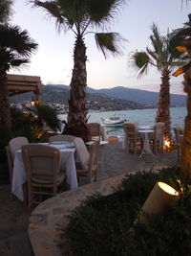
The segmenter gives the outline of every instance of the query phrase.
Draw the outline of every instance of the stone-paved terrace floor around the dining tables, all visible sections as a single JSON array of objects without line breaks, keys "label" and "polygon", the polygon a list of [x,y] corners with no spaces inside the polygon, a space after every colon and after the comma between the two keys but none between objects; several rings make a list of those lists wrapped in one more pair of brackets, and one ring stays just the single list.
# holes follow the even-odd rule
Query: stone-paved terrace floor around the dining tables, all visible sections
[{"label": "stone-paved terrace floor around the dining tables, all visible sections", "polygon": [[[121,143],[109,144],[99,153],[97,175],[98,179],[102,179],[150,169],[153,166],[172,166],[176,163],[176,151],[161,153],[158,156],[143,155],[139,158],[138,155],[123,151]],[[27,233],[30,213],[17,198],[11,196],[10,185],[0,186],[0,209],[0,256],[32,256]]]}]

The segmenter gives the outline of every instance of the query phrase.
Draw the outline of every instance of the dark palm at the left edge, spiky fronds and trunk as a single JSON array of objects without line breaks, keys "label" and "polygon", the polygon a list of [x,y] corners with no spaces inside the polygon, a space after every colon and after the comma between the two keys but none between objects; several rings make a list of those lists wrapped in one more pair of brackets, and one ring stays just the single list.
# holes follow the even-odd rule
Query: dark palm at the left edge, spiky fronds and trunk
[{"label": "dark palm at the left edge, spiky fronds and trunk", "polygon": [[11,131],[11,107],[9,102],[7,72],[29,62],[37,48],[27,31],[18,26],[0,24],[0,125]]}]

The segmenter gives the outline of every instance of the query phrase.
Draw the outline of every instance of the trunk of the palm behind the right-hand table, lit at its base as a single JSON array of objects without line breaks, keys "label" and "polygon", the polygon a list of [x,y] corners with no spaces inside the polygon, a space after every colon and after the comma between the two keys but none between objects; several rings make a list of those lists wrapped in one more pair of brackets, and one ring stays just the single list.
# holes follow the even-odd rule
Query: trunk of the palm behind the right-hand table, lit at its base
[{"label": "trunk of the palm behind the right-hand table, lit at its base", "polygon": [[166,68],[161,73],[161,84],[159,90],[159,104],[156,122],[165,124],[165,138],[171,140],[171,120],[170,120],[170,71]]}]

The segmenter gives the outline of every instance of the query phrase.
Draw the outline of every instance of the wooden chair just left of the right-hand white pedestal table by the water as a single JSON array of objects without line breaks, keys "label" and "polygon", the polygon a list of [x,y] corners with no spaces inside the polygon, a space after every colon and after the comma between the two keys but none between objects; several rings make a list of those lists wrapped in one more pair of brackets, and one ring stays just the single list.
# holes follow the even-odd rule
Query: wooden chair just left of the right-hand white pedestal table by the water
[{"label": "wooden chair just left of the right-hand white pedestal table by the water", "polygon": [[135,124],[124,124],[125,132],[125,149],[127,152],[134,151],[137,154],[138,149],[141,149],[142,139],[138,136],[138,127]]}]

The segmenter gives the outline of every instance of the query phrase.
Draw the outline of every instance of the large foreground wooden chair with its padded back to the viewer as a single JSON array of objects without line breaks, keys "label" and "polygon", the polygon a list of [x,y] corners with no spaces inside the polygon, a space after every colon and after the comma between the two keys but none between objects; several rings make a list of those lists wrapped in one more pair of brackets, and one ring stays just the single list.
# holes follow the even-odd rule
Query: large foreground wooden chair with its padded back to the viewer
[{"label": "large foreground wooden chair with its padded back to the viewer", "polygon": [[28,181],[28,206],[55,196],[66,175],[59,170],[60,151],[45,145],[29,144],[22,147]]}]

